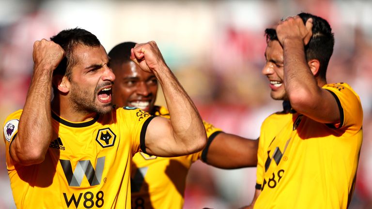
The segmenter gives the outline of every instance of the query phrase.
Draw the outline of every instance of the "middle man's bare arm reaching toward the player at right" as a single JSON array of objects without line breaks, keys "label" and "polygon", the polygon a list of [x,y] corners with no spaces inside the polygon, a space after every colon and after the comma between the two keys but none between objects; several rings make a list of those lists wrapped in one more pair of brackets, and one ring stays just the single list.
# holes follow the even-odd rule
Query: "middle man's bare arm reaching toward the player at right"
[{"label": "middle man's bare arm reaching toward the player at right", "polygon": [[257,165],[258,139],[252,140],[234,134],[220,132],[206,152],[205,163],[224,169],[251,167]]}]

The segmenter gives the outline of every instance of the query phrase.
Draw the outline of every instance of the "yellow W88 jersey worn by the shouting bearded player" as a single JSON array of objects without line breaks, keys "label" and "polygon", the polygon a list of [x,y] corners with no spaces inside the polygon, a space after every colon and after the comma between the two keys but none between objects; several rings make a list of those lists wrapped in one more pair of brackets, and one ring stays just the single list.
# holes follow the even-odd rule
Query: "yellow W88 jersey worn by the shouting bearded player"
[{"label": "yellow W88 jersey worn by the shouting bearded player", "polygon": [[18,110],[5,120],[3,134],[17,208],[130,208],[132,156],[140,151],[140,142],[144,146],[154,116],[124,107],[76,123],[52,113],[53,139],[45,161],[22,166],[9,156],[21,114]]}]

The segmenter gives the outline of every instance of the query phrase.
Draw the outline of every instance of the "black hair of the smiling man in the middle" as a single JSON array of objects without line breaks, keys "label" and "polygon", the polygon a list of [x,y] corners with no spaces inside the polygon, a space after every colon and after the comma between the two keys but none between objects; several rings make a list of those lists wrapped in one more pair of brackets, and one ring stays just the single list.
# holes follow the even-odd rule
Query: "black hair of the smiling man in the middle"
[{"label": "black hair of the smiling man in the middle", "polygon": [[134,48],[135,45],[136,43],[134,42],[123,42],[114,46],[109,52],[110,64],[114,66],[131,61],[130,50]]}]

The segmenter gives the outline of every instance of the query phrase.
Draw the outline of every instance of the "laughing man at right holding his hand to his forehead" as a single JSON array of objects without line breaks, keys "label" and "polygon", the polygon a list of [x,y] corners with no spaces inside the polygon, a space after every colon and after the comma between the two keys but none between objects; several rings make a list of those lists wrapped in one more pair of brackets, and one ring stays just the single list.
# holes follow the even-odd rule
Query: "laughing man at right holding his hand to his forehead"
[{"label": "laughing man at right holding his hand to his forehead", "polygon": [[362,144],[363,110],[346,83],[327,83],[334,37],[328,22],[301,13],[266,29],[262,73],[283,111],[261,126],[250,207],[346,209]]}]

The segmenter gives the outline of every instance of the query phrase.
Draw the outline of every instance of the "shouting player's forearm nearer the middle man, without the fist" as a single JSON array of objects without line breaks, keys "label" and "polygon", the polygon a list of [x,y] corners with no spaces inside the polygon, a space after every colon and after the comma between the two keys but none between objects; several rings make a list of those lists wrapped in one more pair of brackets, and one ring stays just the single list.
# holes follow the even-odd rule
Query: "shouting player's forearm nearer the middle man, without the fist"
[{"label": "shouting player's forearm nearer the middle man, without the fist", "polygon": [[183,144],[187,152],[201,150],[206,143],[206,134],[194,103],[167,66],[162,66],[154,73],[162,87],[171,115],[174,139]]}]

